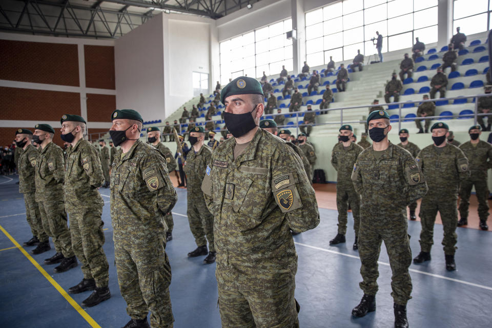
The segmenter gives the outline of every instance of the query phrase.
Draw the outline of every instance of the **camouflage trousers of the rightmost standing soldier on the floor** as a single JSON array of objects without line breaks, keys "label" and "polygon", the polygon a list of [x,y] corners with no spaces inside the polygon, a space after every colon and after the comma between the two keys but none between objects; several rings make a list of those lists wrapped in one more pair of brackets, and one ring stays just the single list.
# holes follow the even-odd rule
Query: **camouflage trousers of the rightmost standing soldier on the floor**
[{"label": "camouflage trousers of the rightmost standing soldier on the floor", "polygon": [[460,206],[458,211],[460,217],[468,217],[468,208],[470,206],[471,188],[475,185],[478,200],[478,217],[481,221],[486,221],[488,217],[488,187],[487,179],[462,180],[460,183]]}]

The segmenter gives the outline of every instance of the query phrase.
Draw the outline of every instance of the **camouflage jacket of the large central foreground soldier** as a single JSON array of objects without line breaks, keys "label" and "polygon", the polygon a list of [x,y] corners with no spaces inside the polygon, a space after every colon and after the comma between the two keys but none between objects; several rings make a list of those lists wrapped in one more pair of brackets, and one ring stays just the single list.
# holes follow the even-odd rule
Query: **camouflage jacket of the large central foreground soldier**
[{"label": "camouflage jacket of the large central foreground soldier", "polygon": [[318,204],[290,142],[258,129],[234,160],[235,145],[231,138],[214,151],[202,185],[215,215],[216,278],[224,288],[271,289],[294,281],[290,229],[314,229]]}]

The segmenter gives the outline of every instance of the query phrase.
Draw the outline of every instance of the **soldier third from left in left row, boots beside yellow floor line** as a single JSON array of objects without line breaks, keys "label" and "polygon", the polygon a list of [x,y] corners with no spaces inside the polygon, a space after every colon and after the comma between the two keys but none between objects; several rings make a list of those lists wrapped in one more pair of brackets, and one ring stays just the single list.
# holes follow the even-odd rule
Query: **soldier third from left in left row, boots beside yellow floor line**
[{"label": "soldier third from left in left row, boots beside yellow floor line", "polygon": [[[82,281],[69,288],[68,292],[78,294],[94,290],[81,303],[90,307],[111,297],[108,288],[109,264],[103,250],[105,238],[101,214],[104,201],[97,191],[103,183],[103,169],[97,148],[84,140],[84,118],[63,115],[60,124],[61,139],[72,146],[65,163],[65,209],[70,219],[72,248],[82,263],[84,274]],[[63,258],[63,255],[59,256]]]}]

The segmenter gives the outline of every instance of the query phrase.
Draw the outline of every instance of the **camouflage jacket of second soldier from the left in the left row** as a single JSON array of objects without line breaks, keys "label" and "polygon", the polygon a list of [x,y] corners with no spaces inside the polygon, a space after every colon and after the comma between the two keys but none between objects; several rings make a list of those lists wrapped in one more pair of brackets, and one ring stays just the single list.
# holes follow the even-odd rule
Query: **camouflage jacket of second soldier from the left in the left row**
[{"label": "camouflage jacket of second soldier from the left in the left row", "polygon": [[50,142],[40,152],[36,161],[36,201],[63,199],[65,157],[63,150]]}]

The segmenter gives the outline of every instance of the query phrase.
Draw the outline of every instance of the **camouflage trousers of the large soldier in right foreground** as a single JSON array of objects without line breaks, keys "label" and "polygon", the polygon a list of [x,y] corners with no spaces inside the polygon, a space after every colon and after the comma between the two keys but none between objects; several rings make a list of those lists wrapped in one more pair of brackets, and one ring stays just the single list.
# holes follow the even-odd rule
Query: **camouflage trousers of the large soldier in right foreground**
[{"label": "camouflage trousers of the large soldier in right foreground", "polygon": [[393,272],[391,296],[393,296],[395,303],[400,305],[406,305],[407,301],[412,298],[410,296],[412,278],[408,272],[408,267],[412,263],[412,251],[410,250],[407,228],[406,216],[403,218],[403,213],[401,220],[389,222],[387,228],[376,228],[374,222],[364,222],[364,219],[361,218],[359,257],[362,282],[359,286],[364,294],[376,295],[378,291],[378,283],[376,282],[379,276],[378,259],[381,241],[384,241],[389,265]]}]

